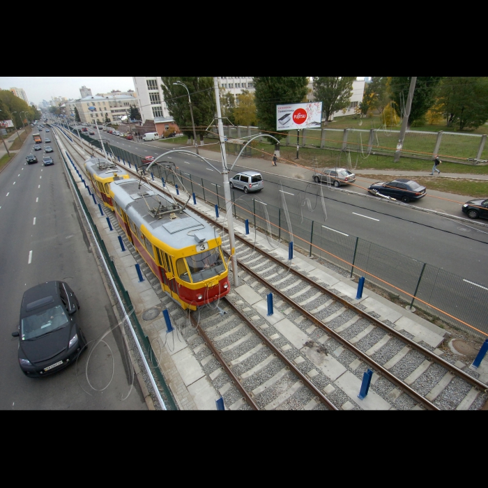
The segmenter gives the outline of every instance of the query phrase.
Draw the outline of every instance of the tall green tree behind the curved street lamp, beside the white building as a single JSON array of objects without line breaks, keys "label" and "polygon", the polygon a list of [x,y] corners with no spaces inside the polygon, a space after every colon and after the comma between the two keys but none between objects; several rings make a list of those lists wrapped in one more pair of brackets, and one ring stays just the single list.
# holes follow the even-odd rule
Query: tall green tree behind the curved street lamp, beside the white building
[{"label": "tall green tree behind the curved street lamp, beside the white building", "polygon": [[201,142],[206,135],[206,128],[215,117],[215,94],[213,77],[211,76],[162,76],[162,93],[165,97],[169,114],[188,139],[193,136],[188,92],[184,86],[174,85],[175,82],[184,83],[190,92],[192,101],[195,130]]}]

